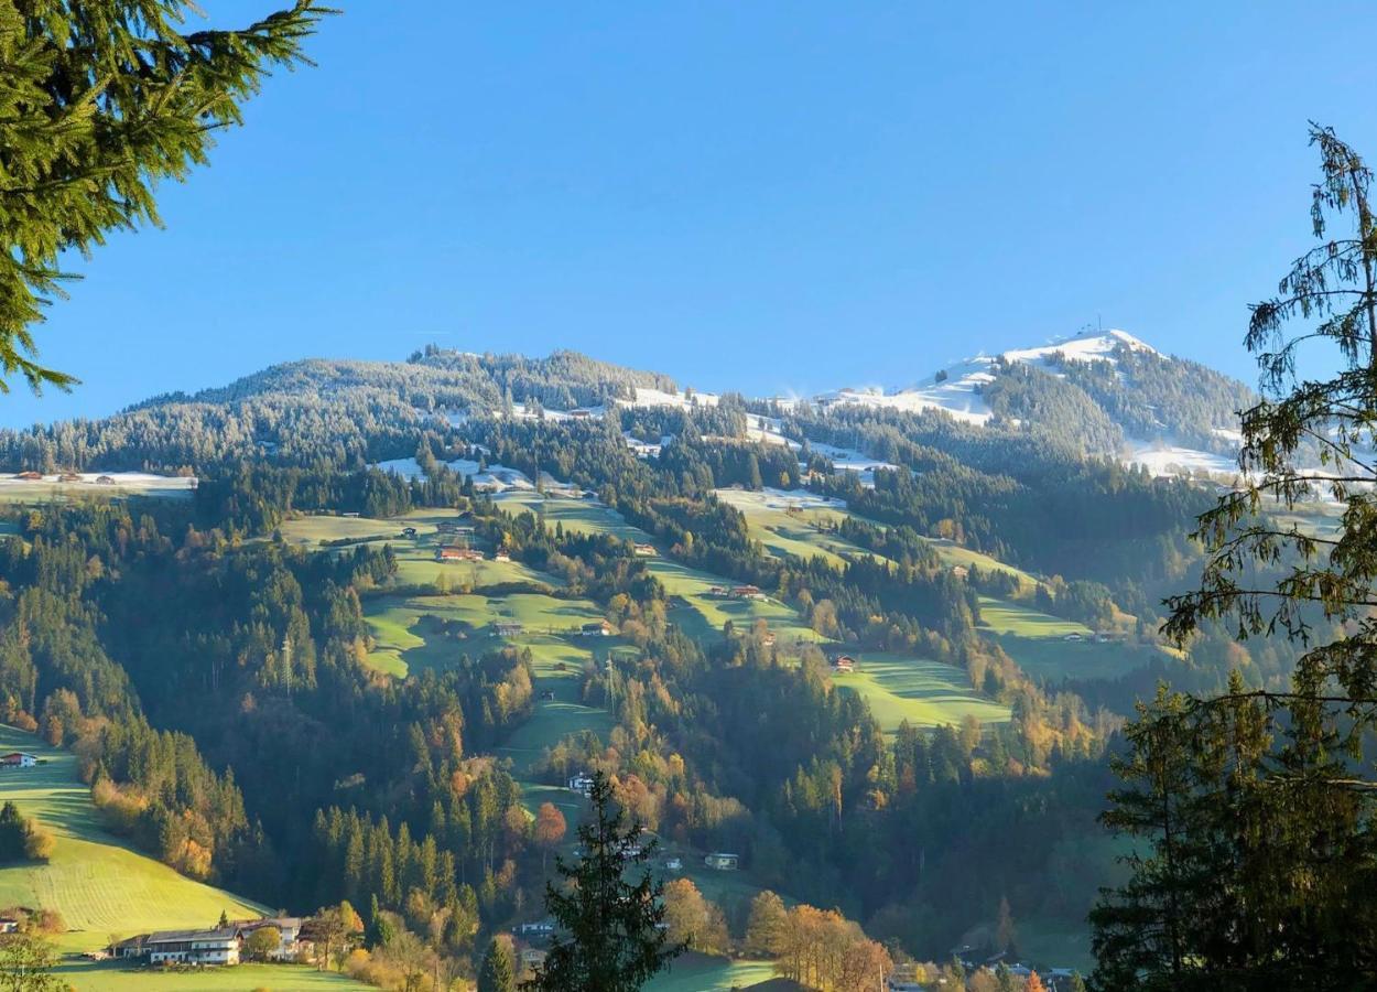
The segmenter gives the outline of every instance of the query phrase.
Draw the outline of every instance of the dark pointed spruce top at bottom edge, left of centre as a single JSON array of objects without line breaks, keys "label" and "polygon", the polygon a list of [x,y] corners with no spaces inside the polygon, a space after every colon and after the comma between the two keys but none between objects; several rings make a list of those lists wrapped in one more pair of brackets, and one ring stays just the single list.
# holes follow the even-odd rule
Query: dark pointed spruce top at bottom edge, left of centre
[{"label": "dark pointed spruce top at bottom edge, left of centre", "polygon": [[628,818],[599,772],[589,792],[591,818],[578,827],[581,856],[570,865],[562,857],[555,871],[562,886],[545,885],[545,908],[558,931],[536,977],[522,984],[534,992],[635,992],[666,967],[682,944],[671,944],[664,927],[664,885],[642,868],[655,850],[642,836],[642,824]]}]

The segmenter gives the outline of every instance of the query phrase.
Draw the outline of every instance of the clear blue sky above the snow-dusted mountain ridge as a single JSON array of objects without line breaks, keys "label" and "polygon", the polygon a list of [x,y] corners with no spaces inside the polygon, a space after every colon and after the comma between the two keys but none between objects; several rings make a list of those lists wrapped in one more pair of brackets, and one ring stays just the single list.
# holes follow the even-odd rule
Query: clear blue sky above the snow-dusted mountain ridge
[{"label": "clear blue sky above the snow-dusted mountain ridge", "polygon": [[1307,118],[1377,158],[1370,4],[339,6],[165,230],[74,260],[37,333],[85,383],[0,423],[430,340],[764,394],[1103,320],[1252,379]]}]

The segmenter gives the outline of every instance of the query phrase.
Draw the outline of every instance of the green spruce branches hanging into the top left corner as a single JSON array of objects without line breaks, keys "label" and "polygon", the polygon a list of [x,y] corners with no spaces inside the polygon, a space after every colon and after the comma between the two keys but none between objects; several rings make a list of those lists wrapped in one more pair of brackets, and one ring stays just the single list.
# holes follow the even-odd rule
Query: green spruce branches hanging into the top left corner
[{"label": "green spruce branches hanging into the top left corner", "polygon": [[154,186],[207,161],[219,128],[328,11],[296,0],[242,30],[182,32],[185,0],[0,3],[0,391],[67,389],[30,332],[62,252],[158,223]]}]

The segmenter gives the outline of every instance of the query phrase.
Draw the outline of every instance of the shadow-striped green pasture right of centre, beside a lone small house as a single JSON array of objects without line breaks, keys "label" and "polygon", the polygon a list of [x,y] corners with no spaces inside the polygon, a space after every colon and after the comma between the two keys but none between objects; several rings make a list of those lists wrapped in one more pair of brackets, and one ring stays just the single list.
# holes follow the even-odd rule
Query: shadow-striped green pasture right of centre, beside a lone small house
[{"label": "shadow-striped green pasture right of centre, beside a lone small house", "polygon": [[832,683],[858,693],[885,733],[899,723],[913,726],[957,725],[967,716],[982,723],[1002,723],[1009,708],[980,696],[960,668],[928,659],[866,653],[854,672],[833,672]]}]

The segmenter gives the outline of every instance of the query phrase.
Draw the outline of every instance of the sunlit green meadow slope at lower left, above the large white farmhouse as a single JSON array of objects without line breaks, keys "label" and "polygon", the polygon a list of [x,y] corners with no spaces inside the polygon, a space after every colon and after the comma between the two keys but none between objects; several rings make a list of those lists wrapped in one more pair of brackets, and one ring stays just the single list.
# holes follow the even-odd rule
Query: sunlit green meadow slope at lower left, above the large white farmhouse
[{"label": "sunlit green meadow slope at lower left, above the large white farmhouse", "polygon": [[256,916],[263,907],[178,875],[102,829],[76,758],[33,734],[0,726],[0,750],[37,754],[43,763],[0,773],[0,802],[14,802],[56,838],[48,864],[0,868],[0,905],[56,909],[67,949],[103,945],[112,933],[211,926],[220,912]]}]

